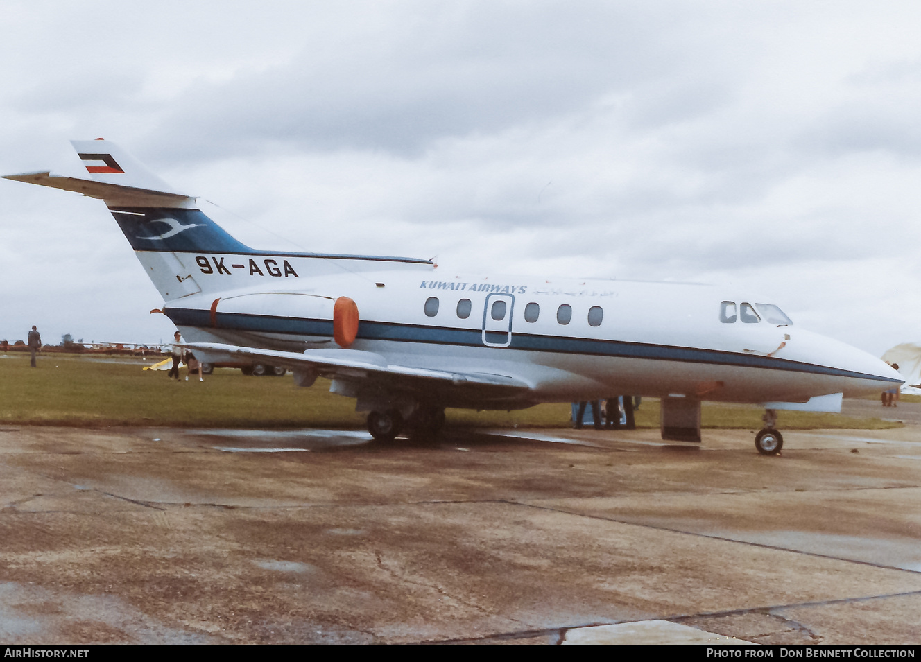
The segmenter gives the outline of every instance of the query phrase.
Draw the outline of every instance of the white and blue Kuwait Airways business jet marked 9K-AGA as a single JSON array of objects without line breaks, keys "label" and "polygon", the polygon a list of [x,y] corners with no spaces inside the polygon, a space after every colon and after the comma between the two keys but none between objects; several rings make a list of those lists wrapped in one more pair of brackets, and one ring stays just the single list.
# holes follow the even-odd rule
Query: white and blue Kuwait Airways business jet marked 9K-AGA
[{"label": "white and blue Kuwait Airways business jet marked 9K-AGA", "polygon": [[206,362],[285,367],[356,399],[378,440],[433,438],[446,407],[517,410],[618,395],[661,399],[661,436],[701,440],[702,401],[840,412],[904,382],[875,356],[800,329],[769,299],[713,285],[442,273],[377,255],[255,250],[105,140],[74,141],[90,179],[6,179],[106,203],[162,312]]}]

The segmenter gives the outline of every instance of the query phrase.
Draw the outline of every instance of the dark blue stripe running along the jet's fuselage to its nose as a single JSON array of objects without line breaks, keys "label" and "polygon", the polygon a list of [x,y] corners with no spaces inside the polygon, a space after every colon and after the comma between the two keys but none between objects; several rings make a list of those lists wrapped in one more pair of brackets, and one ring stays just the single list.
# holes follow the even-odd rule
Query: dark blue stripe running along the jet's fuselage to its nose
[{"label": "dark blue stripe running along the jet's fuselage to its nose", "polygon": [[[169,319],[177,326],[211,327],[211,313],[208,310],[189,308],[166,308]],[[271,315],[250,315],[243,313],[216,314],[218,329],[229,331],[262,331],[303,335],[332,336],[332,321],[326,319],[282,318]],[[432,343],[464,347],[486,347],[483,331],[480,329],[452,329],[449,327],[422,326],[416,324],[395,324],[362,320],[358,325],[357,338],[362,340],[393,341],[400,343]],[[738,354],[723,350],[697,349],[675,345],[631,343],[627,341],[593,340],[566,336],[542,336],[526,333],[512,333],[512,343],[507,350],[528,352],[553,352],[556,354],[584,354],[589,356],[611,356],[616,358],[640,358],[654,361],[676,361],[715,366],[758,367],[767,370],[831,375],[834,377],[857,377],[873,379],[892,384],[899,379],[880,377],[841,368],[818,366],[816,364],[788,361],[787,359],[752,354]]]}]

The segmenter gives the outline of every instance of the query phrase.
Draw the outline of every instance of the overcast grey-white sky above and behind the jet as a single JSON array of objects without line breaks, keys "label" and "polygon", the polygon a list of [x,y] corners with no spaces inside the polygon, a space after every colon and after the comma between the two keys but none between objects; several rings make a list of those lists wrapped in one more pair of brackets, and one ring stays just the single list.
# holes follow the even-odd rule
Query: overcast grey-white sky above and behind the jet
[{"label": "overcast grey-white sky above and behind the jet", "polygon": [[[17,2],[0,172],[118,142],[257,248],[751,287],[921,341],[921,3]],[[283,239],[284,238],[284,239]],[[168,339],[103,203],[0,180],[0,339]]]}]

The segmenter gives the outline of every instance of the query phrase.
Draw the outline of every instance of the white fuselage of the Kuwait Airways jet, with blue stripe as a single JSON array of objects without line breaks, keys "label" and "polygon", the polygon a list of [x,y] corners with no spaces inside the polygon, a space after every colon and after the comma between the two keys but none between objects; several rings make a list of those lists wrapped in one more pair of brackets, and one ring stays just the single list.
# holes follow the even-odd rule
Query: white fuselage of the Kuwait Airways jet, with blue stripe
[{"label": "white fuselage of the Kuwait Airways jet, with blue stripe", "polygon": [[447,406],[504,409],[621,394],[801,402],[901,381],[880,359],[795,326],[720,321],[721,302],[762,299],[711,285],[473,276],[419,261],[267,253],[138,257],[147,273],[161,273],[164,261],[184,272],[166,312],[190,342],[335,346],[332,300],[347,296],[360,319],[352,349],[530,386],[518,401]]}]

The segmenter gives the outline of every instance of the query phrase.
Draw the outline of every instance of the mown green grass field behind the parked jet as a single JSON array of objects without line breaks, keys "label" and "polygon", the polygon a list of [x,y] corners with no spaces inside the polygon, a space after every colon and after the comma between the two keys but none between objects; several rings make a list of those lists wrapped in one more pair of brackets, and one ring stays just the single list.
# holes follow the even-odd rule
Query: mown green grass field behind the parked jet
[{"label": "mown green grass field behind the parked jet", "polygon": [[[318,379],[310,389],[291,377],[243,377],[218,368],[214,375],[179,383],[165,372],[141,368],[156,363],[131,357],[0,353],[0,424],[72,426],[169,425],[187,427],[363,427],[355,401],[333,395]],[[185,377],[185,369],[182,369]],[[903,396],[904,398],[904,396]],[[518,412],[448,410],[449,424],[476,427],[569,427],[569,404],[542,404]],[[705,403],[708,428],[761,428],[758,407]],[[659,427],[659,401],[644,400],[636,412],[639,427]],[[838,414],[779,412],[781,429],[880,429],[900,424]]]}]

